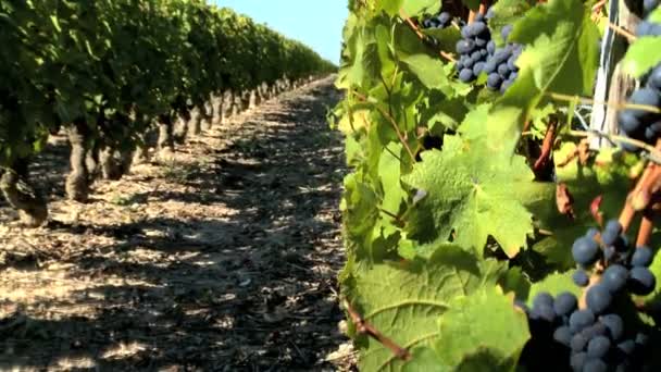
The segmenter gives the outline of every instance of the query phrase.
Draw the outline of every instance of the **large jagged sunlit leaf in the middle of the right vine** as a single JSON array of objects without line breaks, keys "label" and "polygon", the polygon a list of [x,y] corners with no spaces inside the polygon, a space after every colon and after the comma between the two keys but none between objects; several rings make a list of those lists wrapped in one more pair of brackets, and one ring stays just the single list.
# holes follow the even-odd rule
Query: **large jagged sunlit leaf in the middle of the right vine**
[{"label": "large jagged sunlit leaf in the middle of the right vine", "polygon": [[[525,198],[536,195],[534,175],[525,159],[492,149],[486,138],[488,107],[472,111],[460,126],[461,136],[445,136],[442,151],[422,152],[422,162],[404,182],[427,193],[413,213],[420,224],[436,236],[422,238],[447,240],[481,255],[492,236],[509,257],[526,247],[533,234],[532,214]],[[433,224],[433,226],[429,226]],[[411,232],[411,237],[416,235]]]}]

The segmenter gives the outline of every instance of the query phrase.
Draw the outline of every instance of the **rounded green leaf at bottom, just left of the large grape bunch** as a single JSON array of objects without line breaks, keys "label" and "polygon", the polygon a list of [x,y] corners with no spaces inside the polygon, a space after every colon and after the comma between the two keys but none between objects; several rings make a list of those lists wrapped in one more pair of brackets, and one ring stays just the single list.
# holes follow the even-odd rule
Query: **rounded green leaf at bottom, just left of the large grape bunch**
[{"label": "rounded green leaf at bottom, just left of the large grape bunch", "polygon": [[454,298],[439,327],[438,371],[512,370],[531,338],[526,314],[497,287]]}]

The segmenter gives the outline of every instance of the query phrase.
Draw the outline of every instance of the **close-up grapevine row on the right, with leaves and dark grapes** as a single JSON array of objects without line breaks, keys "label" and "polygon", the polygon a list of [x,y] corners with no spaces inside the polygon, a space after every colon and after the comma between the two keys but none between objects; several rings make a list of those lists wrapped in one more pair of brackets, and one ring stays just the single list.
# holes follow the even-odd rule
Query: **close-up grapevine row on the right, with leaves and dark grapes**
[{"label": "close-up grapevine row on the right, with leaves and dark grapes", "polygon": [[[332,120],[361,370],[661,369],[661,10],[619,2],[634,28],[606,3],[349,1]],[[607,29],[641,88],[598,102]],[[589,128],[597,103],[623,134]]]}]

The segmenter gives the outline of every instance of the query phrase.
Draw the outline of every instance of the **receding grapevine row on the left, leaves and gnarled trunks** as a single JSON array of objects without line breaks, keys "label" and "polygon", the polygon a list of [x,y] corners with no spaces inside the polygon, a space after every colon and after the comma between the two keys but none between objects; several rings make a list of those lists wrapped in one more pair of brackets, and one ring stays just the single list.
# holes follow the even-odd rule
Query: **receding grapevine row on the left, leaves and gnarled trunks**
[{"label": "receding grapevine row on the left, leaves and gnarled trunks", "polygon": [[177,122],[199,132],[335,69],[202,0],[0,0],[0,188],[28,225],[47,218],[28,165],[49,134],[66,131],[66,191],[86,201],[96,173],[121,177],[154,128],[172,151]]}]

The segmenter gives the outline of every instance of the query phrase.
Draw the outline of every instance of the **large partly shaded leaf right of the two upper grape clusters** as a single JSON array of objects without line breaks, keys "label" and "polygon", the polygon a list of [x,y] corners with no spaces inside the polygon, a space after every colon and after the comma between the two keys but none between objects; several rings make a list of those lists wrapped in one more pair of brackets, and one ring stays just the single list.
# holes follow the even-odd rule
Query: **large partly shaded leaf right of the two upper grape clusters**
[{"label": "large partly shaded leaf right of the two upper grape clusters", "polygon": [[494,142],[517,139],[533,109],[549,92],[591,95],[599,32],[590,14],[581,0],[551,0],[514,24],[510,41],[524,45],[524,51],[516,61],[519,77],[489,115]]}]

